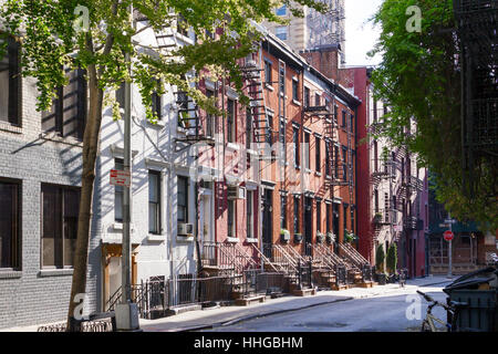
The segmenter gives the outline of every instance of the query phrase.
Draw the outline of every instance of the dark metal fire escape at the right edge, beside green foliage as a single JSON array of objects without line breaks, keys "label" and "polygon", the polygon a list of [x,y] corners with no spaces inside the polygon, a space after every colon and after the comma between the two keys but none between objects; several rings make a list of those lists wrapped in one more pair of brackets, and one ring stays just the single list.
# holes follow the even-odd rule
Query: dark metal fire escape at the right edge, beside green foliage
[{"label": "dark metal fire escape at the right edge, beside green foliage", "polygon": [[[479,165],[498,156],[498,2],[454,0],[461,74],[464,188],[471,196]],[[496,200],[497,164],[491,174]]]}]

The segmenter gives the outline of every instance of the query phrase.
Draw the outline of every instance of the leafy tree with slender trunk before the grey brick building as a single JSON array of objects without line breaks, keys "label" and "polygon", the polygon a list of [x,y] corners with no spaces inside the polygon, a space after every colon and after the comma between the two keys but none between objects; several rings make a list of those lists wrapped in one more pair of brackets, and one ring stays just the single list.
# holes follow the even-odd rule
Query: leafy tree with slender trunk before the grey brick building
[{"label": "leafy tree with slender trunk before the grey brick building", "polygon": [[[129,6],[146,17],[155,31],[181,23],[199,39],[194,45],[175,50],[173,56],[153,55],[138,51],[133,37],[144,29],[135,29],[129,19]],[[299,6],[324,11],[315,0],[6,0],[0,9],[3,35],[14,35],[22,44],[22,75],[37,79],[38,110],[45,111],[55,97],[55,87],[68,83],[64,67],[86,71],[89,112],[83,135],[83,168],[77,240],[68,321],[76,303],[74,296],[85,293],[90,222],[92,218],[95,160],[102,108],[107,98],[113,104],[115,118],[120,118],[117,103],[105,93],[117,90],[122,82],[139,87],[147,118],[156,119],[152,110],[152,93],[164,93],[169,83],[186,91],[199,106],[215,111],[212,102],[191,88],[186,74],[209,67],[224,73],[241,93],[241,72],[237,60],[253,51],[258,33],[249,20],[263,19],[282,22],[274,8],[286,4],[294,15],[302,15]],[[80,23],[80,15],[87,17]],[[176,21],[181,13],[181,22]],[[87,20],[87,23],[85,23]],[[83,25],[79,25],[83,24]],[[87,24],[87,27],[85,27]],[[206,30],[222,29],[212,40]],[[0,32],[1,33],[1,32]],[[0,50],[0,55],[1,55]],[[129,64],[125,59],[132,58]],[[172,60],[180,58],[180,60]],[[70,327],[68,325],[68,327]]]}]

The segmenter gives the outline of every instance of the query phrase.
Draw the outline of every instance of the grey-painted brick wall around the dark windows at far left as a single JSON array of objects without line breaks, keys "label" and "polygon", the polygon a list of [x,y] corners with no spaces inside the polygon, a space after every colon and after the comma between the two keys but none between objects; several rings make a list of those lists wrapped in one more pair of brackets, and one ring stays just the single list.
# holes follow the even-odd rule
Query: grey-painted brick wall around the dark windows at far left
[{"label": "grey-painted brick wall around the dark windows at far left", "polygon": [[[22,127],[2,125],[0,129],[0,177],[20,180],[22,210],[21,267],[15,271],[0,269],[0,327],[65,319],[72,271],[41,268],[41,184],[81,184],[81,147],[40,137],[41,113],[35,111],[33,80],[22,81]],[[89,288],[92,281],[89,272]]]}]

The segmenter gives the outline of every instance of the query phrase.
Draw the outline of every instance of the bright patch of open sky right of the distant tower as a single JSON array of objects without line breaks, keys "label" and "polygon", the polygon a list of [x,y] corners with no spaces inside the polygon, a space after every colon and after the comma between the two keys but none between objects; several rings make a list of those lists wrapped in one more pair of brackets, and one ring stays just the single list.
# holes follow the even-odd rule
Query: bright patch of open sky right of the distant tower
[{"label": "bright patch of open sky right of the distant tower", "polygon": [[345,0],[345,55],[346,65],[376,65],[377,55],[369,59],[366,52],[373,49],[380,30],[366,23],[383,0]]}]

